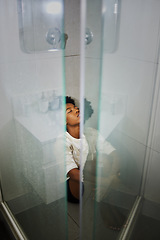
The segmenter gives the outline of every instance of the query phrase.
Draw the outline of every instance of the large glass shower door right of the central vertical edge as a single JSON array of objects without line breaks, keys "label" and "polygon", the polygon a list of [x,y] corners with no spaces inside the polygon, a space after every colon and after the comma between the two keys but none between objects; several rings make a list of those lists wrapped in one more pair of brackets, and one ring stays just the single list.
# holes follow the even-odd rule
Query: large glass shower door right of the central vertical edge
[{"label": "large glass shower door right of the central vertical edge", "polygon": [[156,75],[155,6],[157,1],[87,1],[86,27],[93,40],[85,58],[90,154],[84,169],[84,239],[118,239],[140,195]]}]

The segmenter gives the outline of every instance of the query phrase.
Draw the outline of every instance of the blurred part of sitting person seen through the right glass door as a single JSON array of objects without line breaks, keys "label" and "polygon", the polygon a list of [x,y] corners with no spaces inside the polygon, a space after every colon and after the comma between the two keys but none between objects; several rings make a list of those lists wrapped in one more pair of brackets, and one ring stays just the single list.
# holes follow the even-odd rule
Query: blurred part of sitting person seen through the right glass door
[{"label": "blurred part of sitting person seen through the right glass door", "polygon": [[[87,121],[92,117],[94,111],[90,101],[85,99],[84,104],[85,121]],[[107,118],[106,115],[104,125],[108,125],[110,131],[107,131],[107,127],[101,133],[92,127],[85,127],[84,131],[89,146],[89,154],[84,168],[84,185],[89,187],[90,192],[86,193],[89,195],[88,199],[83,199],[82,214],[84,223],[90,219],[90,216],[95,217],[95,223],[90,223],[87,231],[83,229],[83,236],[86,236],[87,232],[92,236],[93,228],[96,232],[101,231],[99,237],[102,237],[107,229],[113,231],[113,234],[114,231],[118,233],[126,227],[127,223],[127,212],[119,208],[119,201],[122,202],[124,197],[123,200],[120,199],[122,196],[119,196],[118,190],[120,186],[124,189],[126,187],[121,178],[120,156],[115,147],[106,140],[106,137],[120,122],[121,114],[117,114],[116,121],[114,121],[116,112],[113,114],[111,111],[109,114],[113,117],[112,124],[109,123],[111,118]],[[87,209],[88,204],[93,209]],[[94,207],[96,207],[95,210]],[[83,227],[84,223],[82,223]],[[100,225],[95,226],[94,224]],[[98,239],[98,235],[96,236]]]}]

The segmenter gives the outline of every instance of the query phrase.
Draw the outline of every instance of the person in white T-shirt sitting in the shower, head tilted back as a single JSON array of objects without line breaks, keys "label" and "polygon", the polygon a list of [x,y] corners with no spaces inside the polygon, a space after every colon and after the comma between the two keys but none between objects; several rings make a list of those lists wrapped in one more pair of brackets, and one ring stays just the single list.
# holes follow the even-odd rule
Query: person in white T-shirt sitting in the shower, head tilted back
[{"label": "person in white T-shirt sitting in the shower, head tilted back", "polygon": [[[87,99],[85,99],[84,105],[86,122],[91,118],[94,111],[91,102]],[[62,154],[59,150],[61,141],[61,138],[59,138],[55,144],[59,159],[61,159]],[[116,190],[119,186],[125,188],[121,179],[118,153],[95,128],[86,127],[84,135],[80,138],[80,111],[75,100],[71,97],[66,97],[65,154],[67,199],[68,202],[79,203],[80,194],[83,196],[82,224],[88,221],[88,217],[93,217],[94,208],[90,212],[87,206],[89,204],[90,207],[93,207],[95,202],[99,214],[96,221],[101,219],[105,227],[110,230],[120,231],[124,228],[127,220],[126,213],[113,204]],[[82,176],[80,175],[80,169]],[[80,184],[82,185],[82,192],[79,191]],[[85,201],[87,201],[87,206]],[[116,201],[114,203],[116,204]],[[83,233],[83,236],[87,233],[91,237],[92,233],[90,231],[93,229],[91,228],[88,231],[88,228],[90,228],[90,225],[87,227],[87,231]]]}]

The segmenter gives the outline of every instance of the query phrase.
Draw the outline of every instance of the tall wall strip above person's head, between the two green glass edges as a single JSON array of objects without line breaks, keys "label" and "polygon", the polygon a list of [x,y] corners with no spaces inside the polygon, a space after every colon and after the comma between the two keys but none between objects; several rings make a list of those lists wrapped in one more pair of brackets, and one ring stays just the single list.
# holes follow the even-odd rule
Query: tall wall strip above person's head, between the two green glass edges
[{"label": "tall wall strip above person's head, between the two green glass edges", "polygon": [[[71,11],[72,9],[72,11]],[[91,101],[94,113],[86,125],[97,128],[101,55],[101,1],[86,1],[86,28],[93,33],[93,41],[85,47],[84,96]],[[80,1],[65,0],[66,94],[80,99]]]}]

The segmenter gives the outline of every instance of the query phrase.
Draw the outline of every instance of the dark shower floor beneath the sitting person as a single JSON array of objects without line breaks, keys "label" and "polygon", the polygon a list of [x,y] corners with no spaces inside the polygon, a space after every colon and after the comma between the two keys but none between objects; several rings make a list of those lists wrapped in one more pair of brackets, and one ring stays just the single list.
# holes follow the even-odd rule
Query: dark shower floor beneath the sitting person
[{"label": "dark shower floor beneath the sitting person", "polygon": [[[95,239],[103,240],[104,235],[108,236],[108,239],[114,240],[118,239],[121,231],[115,231],[108,227],[107,221],[111,219],[112,212],[116,212],[120,216],[127,216],[128,210],[122,207],[116,207],[111,205],[110,202],[103,202],[103,204],[97,203],[95,205],[94,200],[94,184],[91,182],[85,182],[85,192],[83,196],[83,205],[82,205],[82,225],[80,224],[80,206],[79,204],[68,203],[67,206],[67,220],[68,220],[68,240],[78,240],[80,235],[80,229],[82,231],[82,239],[92,240]],[[31,194],[29,195],[31,196]],[[32,195],[33,196],[33,195]],[[36,196],[33,196],[35,199]],[[122,196],[119,192],[113,191],[110,194],[109,200],[118,199],[119,202],[124,202],[125,196]],[[31,202],[33,203],[33,199]],[[28,199],[29,200],[29,199]],[[19,201],[19,202],[18,202]],[[128,202],[133,202],[133,199],[129,199]],[[35,203],[38,202],[38,199]],[[26,196],[22,199],[16,199],[16,203],[9,202],[9,206],[13,209],[13,206],[20,207],[24,209],[26,203]],[[127,202],[125,203],[125,205]],[[131,203],[129,205],[132,205]],[[103,211],[104,209],[104,211]],[[111,211],[109,211],[111,210]],[[58,200],[51,204],[44,204],[39,201],[39,204],[28,208],[26,210],[17,212],[15,209],[15,217],[19,224],[21,225],[23,231],[26,233],[28,239],[30,240],[61,240],[66,239],[65,231],[65,213],[64,213],[64,199]],[[110,215],[104,215],[103,212]],[[95,217],[96,214],[96,217]],[[109,217],[108,217],[109,216]],[[121,220],[121,219],[120,219]],[[123,219],[122,219],[123,220]],[[57,222],[59,221],[59,224]],[[58,225],[58,226],[57,226]],[[54,229],[56,227],[56,229]],[[46,236],[47,233],[47,236]]]}]

